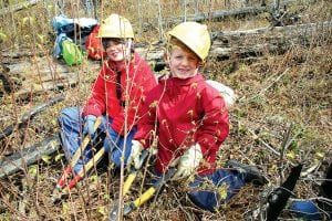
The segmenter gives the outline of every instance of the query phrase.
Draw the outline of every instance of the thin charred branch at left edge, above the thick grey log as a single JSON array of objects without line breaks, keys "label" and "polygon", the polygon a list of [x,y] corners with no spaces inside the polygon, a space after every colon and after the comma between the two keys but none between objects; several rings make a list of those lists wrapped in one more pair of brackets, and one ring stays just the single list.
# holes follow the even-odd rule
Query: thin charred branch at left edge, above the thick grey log
[{"label": "thin charred branch at left edge, above the thick grey log", "polygon": [[0,131],[0,140],[8,137],[9,135],[11,135],[13,133],[14,128],[19,128],[19,129],[22,128],[31,118],[33,118],[40,112],[46,109],[49,106],[54,105],[63,99],[64,99],[63,96],[58,96],[46,103],[35,106],[31,110],[24,113],[18,124],[10,125],[4,130]]}]

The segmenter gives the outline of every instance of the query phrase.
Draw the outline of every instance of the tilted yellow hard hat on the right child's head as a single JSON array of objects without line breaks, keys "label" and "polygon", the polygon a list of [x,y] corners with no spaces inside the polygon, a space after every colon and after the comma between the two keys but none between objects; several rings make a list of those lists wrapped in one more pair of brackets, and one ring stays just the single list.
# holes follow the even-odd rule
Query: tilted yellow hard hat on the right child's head
[{"label": "tilted yellow hard hat on the right child's head", "polygon": [[169,36],[174,36],[188,46],[198,57],[204,61],[209,53],[211,41],[210,34],[205,24],[197,22],[183,22],[167,32]]}]

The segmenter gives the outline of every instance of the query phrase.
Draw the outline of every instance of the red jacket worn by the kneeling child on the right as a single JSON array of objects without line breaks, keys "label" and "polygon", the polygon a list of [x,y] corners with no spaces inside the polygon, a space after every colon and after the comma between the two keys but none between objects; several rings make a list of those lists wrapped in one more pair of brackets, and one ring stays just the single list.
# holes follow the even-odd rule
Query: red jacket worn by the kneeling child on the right
[{"label": "red jacket worn by the kneeling child on the right", "polygon": [[139,115],[143,118],[134,139],[145,148],[153,143],[157,125],[157,171],[167,170],[173,159],[196,143],[205,159],[199,173],[215,170],[216,154],[229,134],[229,115],[221,95],[200,74],[187,80],[160,81],[148,94]]}]

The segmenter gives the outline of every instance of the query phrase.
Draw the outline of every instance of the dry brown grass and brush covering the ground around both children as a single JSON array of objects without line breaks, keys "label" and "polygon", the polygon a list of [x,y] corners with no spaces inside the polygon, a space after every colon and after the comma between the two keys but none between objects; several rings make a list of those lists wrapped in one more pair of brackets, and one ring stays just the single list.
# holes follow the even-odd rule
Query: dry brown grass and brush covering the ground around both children
[{"label": "dry brown grass and brush covering the ground around both children", "polygon": [[[0,6],[3,6],[3,2],[0,1]],[[82,10],[76,10],[77,1],[69,2],[71,2],[66,6],[69,17],[83,13]],[[117,12],[127,17],[133,22],[135,30],[141,33],[136,38],[137,42],[157,41],[159,30],[149,23],[157,18],[158,6],[155,1],[151,1],[153,3],[143,2],[145,3],[141,6],[142,11],[137,11],[136,1],[126,1],[125,3],[124,1],[105,1],[103,14]],[[211,6],[200,4],[199,9],[220,10],[225,8],[225,1],[211,2]],[[179,1],[160,1],[160,4],[163,17],[184,13]],[[290,10],[297,11],[299,8],[303,23],[326,21],[332,18],[332,4],[329,1],[293,6]],[[188,7],[187,13],[193,13],[194,9],[193,6]],[[50,25],[53,10],[48,11],[39,3],[29,10],[14,13],[13,18],[10,14],[3,15],[0,34],[6,34],[7,38],[0,49],[6,52],[29,49],[31,53],[34,53],[37,49],[42,49],[43,57],[50,59],[50,49],[54,41]],[[28,17],[28,12],[32,18],[38,19],[31,19],[31,22],[24,23],[23,18]],[[102,14],[100,15],[102,17]],[[227,19],[208,23],[208,25],[211,31],[259,28],[268,24],[266,15]],[[166,23],[165,30],[168,27]],[[246,45],[246,41],[243,39],[243,45]],[[323,171],[326,165],[331,164],[332,157],[332,44],[331,40],[320,42],[321,39],[314,39],[314,41],[305,48],[293,45],[284,54],[266,53],[252,62],[243,62],[236,57],[218,62],[210,57],[207,63],[209,72],[206,73],[206,76],[231,86],[238,95],[238,102],[230,110],[231,134],[219,151],[219,164],[222,165],[227,159],[234,158],[257,165],[268,176],[269,187],[257,189],[248,186],[234,200],[220,208],[219,213],[214,214],[193,206],[183,193],[181,186],[169,183],[154,202],[147,202],[125,220],[242,220],[246,212],[257,207],[261,194],[280,185],[282,177],[287,176],[291,166],[298,162],[302,162],[307,170],[315,161],[321,161],[319,169],[307,179],[301,179],[294,191],[294,196],[299,198],[315,197],[314,190],[320,183],[319,179],[323,178]],[[31,56],[22,57],[22,60],[33,64]],[[2,57],[1,61],[19,63],[19,61],[8,57]],[[24,146],[56,134],[55,119],[60,109],[81,105],[89,96],[90,83],[96,76],[96,72],[89,69],[89,63],[73,67],[74,72],[81,74],[81,84],[62,91],[61,93],[65,95],[64,102],[38,115],[25,129],[15,130],[4,139],[4,143],[1,144],[0,159],[8,154],[19,151]],[[0,128],[3,129],[13,124],[23,112],[54,95],[55,92],[48,92],[21,102],[17,102],[13,95],[0,97]],[[267,145],[281,151],[282,141],[290,125],[292,125],[291,145],[286,150],[283,159],[280,159],[268,149]],[[62,160],[58,159],[60,155],[61,151],[35,165],[22,168],[24,172],[18,172],[0,180],[0,220],[107,219],[113,200],[116,199],[118,176],[111,178],[105,168],[98,169],[85,179],[63,203],[52,204],[50,193],[55,178],[65,164],[63,158]],[[281,170],[280,166],[282,166]],[[138,177],[133,187],[133,193],[125,200],[137,196],[142,179],[142,176]],[[288,214],[284,212],[281,219],[287,218]]]}]

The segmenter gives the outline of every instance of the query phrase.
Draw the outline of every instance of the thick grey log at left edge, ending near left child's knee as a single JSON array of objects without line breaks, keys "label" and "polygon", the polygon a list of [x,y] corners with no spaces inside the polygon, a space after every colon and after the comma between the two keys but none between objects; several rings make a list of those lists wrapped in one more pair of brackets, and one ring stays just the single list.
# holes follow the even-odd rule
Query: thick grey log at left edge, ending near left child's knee
[{"label": "thick grey log at left edge, ending near left child's knee", "polygon": [[43,156],[55,152],[59,147],[59,137],[52,136],[31,147],[23,148],[9,157],[0,159],[0,179],[24,170],[27,166],[37,162]]}]

